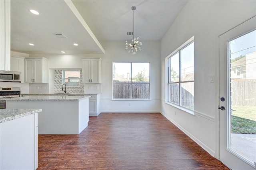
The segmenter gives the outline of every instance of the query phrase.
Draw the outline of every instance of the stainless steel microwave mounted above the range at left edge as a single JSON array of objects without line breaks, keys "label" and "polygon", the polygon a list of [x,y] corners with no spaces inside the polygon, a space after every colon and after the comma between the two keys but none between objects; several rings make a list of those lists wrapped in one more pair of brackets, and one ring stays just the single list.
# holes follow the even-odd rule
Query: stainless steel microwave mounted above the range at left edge
[{"label": "stainless steel microwave mounted above the range at left edge", "polygon": [[0,81],[21,82],[21,72],[0,70]]}]

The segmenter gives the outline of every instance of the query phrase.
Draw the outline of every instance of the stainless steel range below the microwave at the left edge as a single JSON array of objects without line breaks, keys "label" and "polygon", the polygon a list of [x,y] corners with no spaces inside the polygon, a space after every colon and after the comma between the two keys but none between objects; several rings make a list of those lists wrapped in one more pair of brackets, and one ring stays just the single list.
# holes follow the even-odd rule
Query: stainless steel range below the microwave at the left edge
[{"label": "stainless steel range below the microwave at the left edge", "polygon": [[20,97],[20,87],[0,87],[0,109],[6,108],[5,98]]}]

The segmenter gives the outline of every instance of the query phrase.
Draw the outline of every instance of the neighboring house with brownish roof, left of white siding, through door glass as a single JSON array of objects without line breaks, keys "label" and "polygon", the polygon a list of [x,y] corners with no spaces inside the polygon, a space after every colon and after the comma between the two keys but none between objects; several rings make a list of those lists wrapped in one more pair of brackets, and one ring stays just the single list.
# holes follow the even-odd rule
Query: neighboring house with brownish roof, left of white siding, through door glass
[{"label": "neighboring house with brownish roof, left of white siding, through door glass", "polygon": [[230,64],[230,77],[231,79],[246,79],[246,57]]}]

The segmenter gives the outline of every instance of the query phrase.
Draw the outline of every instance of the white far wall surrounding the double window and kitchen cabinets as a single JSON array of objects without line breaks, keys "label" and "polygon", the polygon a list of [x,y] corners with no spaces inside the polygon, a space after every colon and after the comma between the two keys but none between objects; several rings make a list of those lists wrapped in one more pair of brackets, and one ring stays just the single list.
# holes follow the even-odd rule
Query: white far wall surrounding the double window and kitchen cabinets
[{"label": "white far wall surrounding the double window and kitchen cabinets", "polygon": [[[125,42],[110,41],[102,43],[105,54],[30,54],[30,57],[48,58],[50,74],[54,74],[54,71],[51,71],[52,69],[82,68],[81,58],[83,57],[101,57],[102,112],[160,112],[160,41],[142,41],[142,43],[142,50],[138,51],[136,55],[128,53],[128,50],[125,49]],[[112,101],[112,62],[117,61],[150,62],[150,101]],[[54,77],[54,75],[49,77]],[[54,80],[50,78],[49,92],[52,92],[52,81]],[[85,92],[90,93],[87,85],[85,85]],[[36,93],[36,91],[30,91],[30,93]],[[129,103],[131,103],[131,106],[129,106]]]}]

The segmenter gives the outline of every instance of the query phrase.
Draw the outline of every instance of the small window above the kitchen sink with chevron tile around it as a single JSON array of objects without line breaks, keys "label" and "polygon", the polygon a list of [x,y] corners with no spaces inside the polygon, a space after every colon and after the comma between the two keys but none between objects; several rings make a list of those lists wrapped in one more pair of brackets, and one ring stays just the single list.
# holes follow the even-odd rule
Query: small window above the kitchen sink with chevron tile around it
[{"label": "small window above the kitchen sink with chevron tile around it", "polygon": [[80,71],[63,71],[62,83],[67,87],[79,87]]}]

